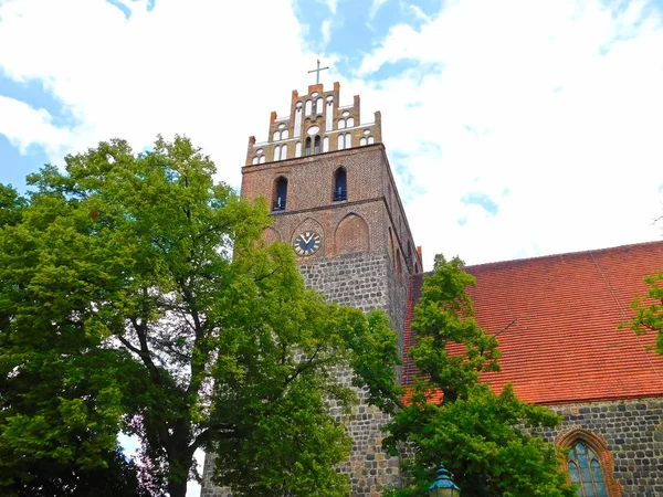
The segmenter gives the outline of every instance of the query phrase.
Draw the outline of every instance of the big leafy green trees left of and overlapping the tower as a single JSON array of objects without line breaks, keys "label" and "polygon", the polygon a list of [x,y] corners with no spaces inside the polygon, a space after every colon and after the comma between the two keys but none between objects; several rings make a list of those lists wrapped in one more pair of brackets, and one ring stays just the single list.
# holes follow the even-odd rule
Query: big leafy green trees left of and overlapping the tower
[{"label": "big leafy green trees left of and overlapping the tower", "polygon": [[119,430],[149,484],[186,495],[193,453],[236,495],[341,496],[349,453],[327,409],[355,395],[392,410],[397,336],[382,313],[305,289],[271,223],[212,180],[191,142],[123,140],[0,190],[0,485],[29,466],[108,466]]}]

